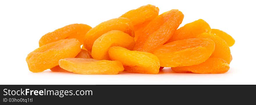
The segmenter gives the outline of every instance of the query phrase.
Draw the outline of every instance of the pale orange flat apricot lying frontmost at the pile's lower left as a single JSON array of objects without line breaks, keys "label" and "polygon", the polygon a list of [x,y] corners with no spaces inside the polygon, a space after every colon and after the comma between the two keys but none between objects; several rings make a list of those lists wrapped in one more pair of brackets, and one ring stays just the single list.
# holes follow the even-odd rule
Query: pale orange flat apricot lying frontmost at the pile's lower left
[{"label": "pale orange flat apricot lying frontmost at the pile's lower left", "polygon": [[86,58],[65,58],[59,60],[61,68],[77,74],[118,74],[124,67],[120,61]]}]

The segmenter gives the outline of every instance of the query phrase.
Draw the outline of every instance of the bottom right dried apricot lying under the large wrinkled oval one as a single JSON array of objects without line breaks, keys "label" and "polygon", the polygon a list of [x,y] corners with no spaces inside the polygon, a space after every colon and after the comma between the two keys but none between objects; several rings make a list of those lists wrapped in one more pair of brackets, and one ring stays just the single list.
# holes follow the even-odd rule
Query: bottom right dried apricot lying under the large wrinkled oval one
[{"label": "bottom right dried apricot lying under the large wrinkled oval one", "polygon": [[216,74],[216,73],[225,73],[229,70],[229,64],[221,58],[209,58],[205,62],[184,67],[172,67],[173,71],[191,71],[193,73],[201,74]]}]

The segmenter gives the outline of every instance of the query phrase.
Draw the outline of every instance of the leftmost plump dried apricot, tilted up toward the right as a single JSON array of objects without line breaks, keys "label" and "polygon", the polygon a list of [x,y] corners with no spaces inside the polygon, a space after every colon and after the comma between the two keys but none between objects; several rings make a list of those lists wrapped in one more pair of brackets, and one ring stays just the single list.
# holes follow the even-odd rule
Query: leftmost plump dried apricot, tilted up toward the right
[{"label": "leftmost plump dried apricot, tilted up toward the right", "polygon": [[62,39],[43,45],[28,54],[26,62],[32,72],[42,72],[58,65],[63,58],[73,58],[81,51],[77,39]]}]

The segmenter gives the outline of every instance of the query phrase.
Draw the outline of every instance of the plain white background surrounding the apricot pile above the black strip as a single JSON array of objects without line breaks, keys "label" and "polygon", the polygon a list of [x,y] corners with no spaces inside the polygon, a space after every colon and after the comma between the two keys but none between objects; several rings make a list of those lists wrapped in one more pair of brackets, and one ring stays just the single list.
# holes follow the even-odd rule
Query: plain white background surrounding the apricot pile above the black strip
[{"label": "plain white background surrounding the apricot pile above the black strip", "polygon": [[[0,84],[256,84],[255,4],[253,0],[88,0],[88,1],[0,1]],[[38,47],[42,35],[72,23],[95,27],[142,5],[159,7],[159,14],[179,9],[180,26],[204,19],[211,28],[230,34],[233,60],[224,74],[174,73],[165,69],[157,75],[79,75],[46,70],[32,73],[26,56]]]}]

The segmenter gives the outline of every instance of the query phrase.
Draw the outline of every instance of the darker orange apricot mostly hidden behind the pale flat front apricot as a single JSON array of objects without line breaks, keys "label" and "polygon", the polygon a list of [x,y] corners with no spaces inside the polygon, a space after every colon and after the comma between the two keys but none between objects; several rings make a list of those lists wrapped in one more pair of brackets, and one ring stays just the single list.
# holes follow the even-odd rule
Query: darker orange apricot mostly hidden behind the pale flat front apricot
[{"label": "darker orange apricot mostly hidden behind the pale flat front apricot", "polygon": [[[77,54],[77,56],[75,58],[93,58],[90,53],[84,49],[81,49],[81,51]],[[53,68],[50,69],[51,71],[54,72],[69,72],[66,71],[64,69],[62,69],[60,66],[55,66]]]}]

